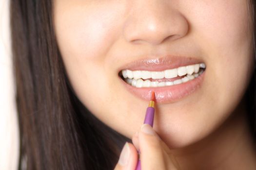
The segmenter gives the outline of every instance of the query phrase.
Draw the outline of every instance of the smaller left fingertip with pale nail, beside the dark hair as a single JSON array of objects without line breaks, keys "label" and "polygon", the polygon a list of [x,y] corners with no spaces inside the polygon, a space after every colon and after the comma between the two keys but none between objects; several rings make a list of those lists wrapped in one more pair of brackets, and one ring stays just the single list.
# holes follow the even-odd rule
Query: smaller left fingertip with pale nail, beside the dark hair
[{"label": "smaller left fingertip with pale nail, beside the dark hair", "polygon": [[138,153],[135,146],[126,142],[114,170],[135,170],[138,161]]}]

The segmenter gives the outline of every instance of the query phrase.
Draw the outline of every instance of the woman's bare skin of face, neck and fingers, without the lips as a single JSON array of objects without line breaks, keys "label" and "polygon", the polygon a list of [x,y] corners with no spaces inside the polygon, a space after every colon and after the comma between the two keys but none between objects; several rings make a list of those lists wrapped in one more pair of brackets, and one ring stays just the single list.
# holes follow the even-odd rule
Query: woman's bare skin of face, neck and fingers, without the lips
[{"label": "woman's bare skin of face, neck and fingers, without the lips", "polygon": [[[145,170],[256,169],[243,99],[254,67],[246,0],[54,3],[57,41],[77,96],[98,119],[133,138],[129,163],[116,170],[134,169],[135,147]],[[128,92],[118,72],[151,54],[194,56],[207,68],[196,92],[157,104],[156,134],[147,136],[139,129],[148,102]]]}]

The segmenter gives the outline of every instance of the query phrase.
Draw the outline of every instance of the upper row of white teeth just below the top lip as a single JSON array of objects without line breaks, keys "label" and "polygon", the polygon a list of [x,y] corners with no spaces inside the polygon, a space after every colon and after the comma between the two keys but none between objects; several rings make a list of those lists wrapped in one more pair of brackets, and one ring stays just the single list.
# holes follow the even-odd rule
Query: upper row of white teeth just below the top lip
[{"label": "upper row of white teeth just below the top lip", "polygon": [[[179,68],[167,69],[164,71],[146,71],[146,70],[136,70],[131,71],[129,69],[122,70],[123,78],[129,79],[162,79],[162,78],[175,78],[177,76],[183,75],[192,75],[193,73],[198,73],[199,68],[206,68],[204,63],[189,65],[189,66],[182,66]],[[198,76],[198,75],[197,75]],[[191,79],[190,79],[191,80]]]}]

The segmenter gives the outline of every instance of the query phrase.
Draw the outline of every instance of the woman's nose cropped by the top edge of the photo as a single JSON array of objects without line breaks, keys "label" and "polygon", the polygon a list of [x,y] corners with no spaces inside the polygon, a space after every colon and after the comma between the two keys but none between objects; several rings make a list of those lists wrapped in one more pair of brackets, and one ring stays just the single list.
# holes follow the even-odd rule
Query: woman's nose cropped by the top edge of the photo
[{"label": "woman's nose cropped by the top edge of the photo", "polygon": [[134,0],[124,23],[123,35],[130,43],[158,45],[188,32],[188,22],[172,1]]}]

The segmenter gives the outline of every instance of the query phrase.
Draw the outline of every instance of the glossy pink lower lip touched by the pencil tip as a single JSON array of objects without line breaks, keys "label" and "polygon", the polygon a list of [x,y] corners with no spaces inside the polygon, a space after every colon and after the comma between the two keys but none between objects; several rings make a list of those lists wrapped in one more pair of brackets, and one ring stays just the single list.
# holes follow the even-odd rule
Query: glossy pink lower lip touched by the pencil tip
[{"label": "glossy pink lower lip touched by the pencil tip", "polygon": [[142,87],[137,88],[127,84],[121,78],[123,85],[128,91],[137,96],[138,98],[150,101],[152,91],[155,92],[156,102],[177,102],[182,98],[194,93],[202,85],[204,80],[205,71],[197,78],[190,80],[186,83],[164,87]]}]

